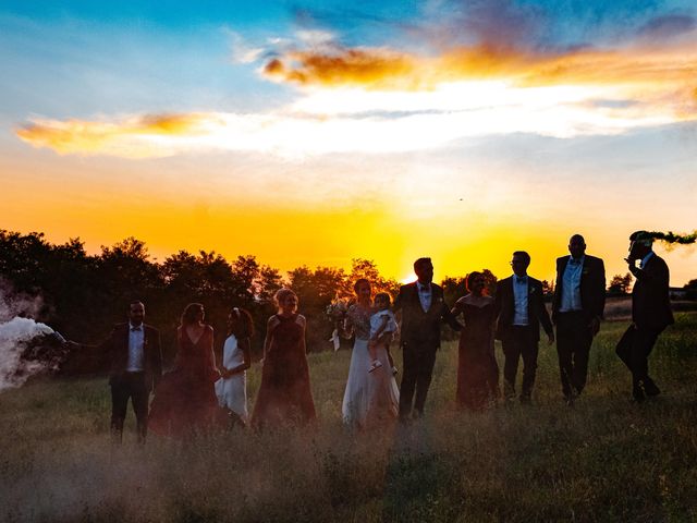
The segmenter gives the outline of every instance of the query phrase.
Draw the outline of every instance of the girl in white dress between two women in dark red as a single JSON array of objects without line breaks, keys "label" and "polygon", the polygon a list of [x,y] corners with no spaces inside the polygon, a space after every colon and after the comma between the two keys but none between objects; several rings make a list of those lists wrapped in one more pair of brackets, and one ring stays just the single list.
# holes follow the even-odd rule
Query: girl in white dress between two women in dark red
[{"label": "girl in white dress between two women in dark red", "polygon": [[249,338],[254,335],[252,316],[234,307],[228,315],[228,338],[222,348],[220,379],[216,381],[218,403],[227,411],[231,426],[246,426],[247,368],[252,365]]}]

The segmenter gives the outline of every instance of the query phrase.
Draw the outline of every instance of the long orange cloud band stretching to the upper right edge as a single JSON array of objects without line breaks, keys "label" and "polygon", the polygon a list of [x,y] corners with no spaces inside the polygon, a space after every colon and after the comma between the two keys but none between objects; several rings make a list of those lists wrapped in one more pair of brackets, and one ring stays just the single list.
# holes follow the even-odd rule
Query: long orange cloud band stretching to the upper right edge
[{"label": "long orange cloud band stretching to the upper right edge", "polygon": [[694,83],[697,52],[670,49],[540,53],[515,47],[460,47],[421,57],[382,48],[292,51],[267,63],[274,81],[303,86],[429,90],[449,82],[504,80],[522,86]]}]

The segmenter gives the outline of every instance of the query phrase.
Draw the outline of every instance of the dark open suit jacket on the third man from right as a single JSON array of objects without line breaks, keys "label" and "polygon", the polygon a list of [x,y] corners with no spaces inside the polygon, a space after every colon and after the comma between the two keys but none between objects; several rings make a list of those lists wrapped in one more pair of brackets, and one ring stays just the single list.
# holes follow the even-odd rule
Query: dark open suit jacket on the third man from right
[{"label": "dark open suit jacket on the third man from right", "polygon": [[[513,330],[515,301],[512,276],[497,283],[494,307],[497,314],[497,340],[502,340]],[[553,332],[552,321],[549,319],[547,307],[545,307],[542,282],[530,276],[527,277],[527,317],[536,341],[540,339],[540,324],[542,324],[545,332],[548,335]]]}]

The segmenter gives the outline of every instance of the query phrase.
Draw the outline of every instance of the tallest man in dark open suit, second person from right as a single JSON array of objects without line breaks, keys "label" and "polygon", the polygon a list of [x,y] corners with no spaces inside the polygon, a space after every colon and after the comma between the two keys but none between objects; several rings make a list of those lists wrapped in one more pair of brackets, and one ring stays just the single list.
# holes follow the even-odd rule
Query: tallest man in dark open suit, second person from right
[{"label": "tallest man in dark open suit, second person from right", "polygon": [[572,404],[586,385],[590,345],[600,330],[606,268],[602,259],[586,254],[586,241],[580,234],[571,236],[568,252],[570,256],[557,259],[552,323],[557,326],[562,392]]}]

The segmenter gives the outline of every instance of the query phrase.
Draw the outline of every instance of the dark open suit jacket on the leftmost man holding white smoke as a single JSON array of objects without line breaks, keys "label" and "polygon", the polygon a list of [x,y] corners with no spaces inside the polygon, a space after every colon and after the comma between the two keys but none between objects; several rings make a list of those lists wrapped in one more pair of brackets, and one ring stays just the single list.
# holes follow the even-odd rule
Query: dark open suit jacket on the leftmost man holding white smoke
[{"label": "dark open suit jacket on the leftmost man holding white smoke", "polygon": [[[109,382],[126,372],[129,365],[129,324],[118,324],[101,344],[101,349],[109,358]],[[155,389],[162,376],[162,351],[160,349],[160,332],[149,325],[143,324],[143,375],[148,390]]]}]

